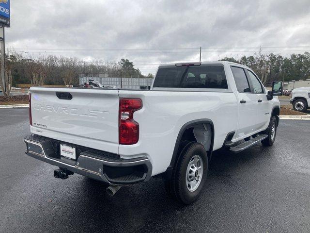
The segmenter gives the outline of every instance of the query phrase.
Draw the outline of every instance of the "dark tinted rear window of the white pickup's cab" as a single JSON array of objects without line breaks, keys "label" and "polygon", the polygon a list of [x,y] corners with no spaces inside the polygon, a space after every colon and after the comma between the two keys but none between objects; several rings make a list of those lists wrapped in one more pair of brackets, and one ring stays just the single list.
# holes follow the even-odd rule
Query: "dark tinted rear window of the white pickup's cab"
[{"label": "dark tinted rear window of the white pickup's cab", "polygon": [[159,68],[153,87],[227,89],[224,67]]}]

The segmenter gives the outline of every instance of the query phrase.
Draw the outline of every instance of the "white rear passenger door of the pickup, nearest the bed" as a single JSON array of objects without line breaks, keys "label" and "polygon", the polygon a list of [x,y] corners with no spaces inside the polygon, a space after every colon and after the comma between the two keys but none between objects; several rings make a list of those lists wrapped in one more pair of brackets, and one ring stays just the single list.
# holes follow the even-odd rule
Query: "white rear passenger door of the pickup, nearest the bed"
[{"label": "white rear passenger door of the pickup, nearest the bed", "polygon": [[243,67],[231,66],[233,78],[238,91],[239,115],[236,137],[242,137],[259,128],[257,117],[258,98],[251,93],[246,70]]}]

